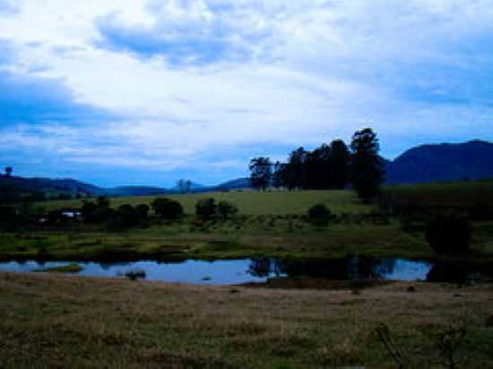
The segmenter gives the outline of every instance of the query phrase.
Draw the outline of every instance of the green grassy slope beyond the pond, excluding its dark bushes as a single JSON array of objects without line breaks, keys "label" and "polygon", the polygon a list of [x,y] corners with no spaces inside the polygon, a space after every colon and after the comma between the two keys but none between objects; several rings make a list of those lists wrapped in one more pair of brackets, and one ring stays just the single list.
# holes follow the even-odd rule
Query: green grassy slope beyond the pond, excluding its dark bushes
[{"label": "green grassy slope beyond the pond, excluding its dark bushes", "polygon": [[[474,206],[477,199],[493,203],[491,183],[392,186],[385,188],[403,202],[434,207]],[[105,227],[76,225],[4,233],[0,258],[65,260],[186,259],[289,257],[329,258],[349,254],[433,258],[422,231],[402,231],[399,219],[372,218],[374,205],[359,202],[350,191],[257,193],[200,193],[172,196],[187,216],[176,222],[153,219],[149,227],[108,231]],[[204,197],[238,206],[234,219],[197,222],[195,202]],[[112,199],[123,203],[150,203],[153,198]],[[324,203],[337,217],[328,227],[306,219],[307,209]],[[38,206],[62,209],[81,202],[42,202]],[[493,222],[474,223],[471,258],[493,259]]]}]

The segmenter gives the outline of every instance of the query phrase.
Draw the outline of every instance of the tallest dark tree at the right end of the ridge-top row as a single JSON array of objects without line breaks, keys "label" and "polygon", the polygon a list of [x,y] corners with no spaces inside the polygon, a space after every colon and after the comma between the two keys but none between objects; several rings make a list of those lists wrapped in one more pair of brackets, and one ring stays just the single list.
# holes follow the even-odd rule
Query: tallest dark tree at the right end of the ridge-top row
[{"label": "tallest dark tree at the right end of the ridge-top row", "polygon": [[359,198],[368,202],[380,192],[380,185],[385,180],[384,162],[378,156],[380,145],[376,133],[370,128],[354,133],[350,148],[352,184]]}]

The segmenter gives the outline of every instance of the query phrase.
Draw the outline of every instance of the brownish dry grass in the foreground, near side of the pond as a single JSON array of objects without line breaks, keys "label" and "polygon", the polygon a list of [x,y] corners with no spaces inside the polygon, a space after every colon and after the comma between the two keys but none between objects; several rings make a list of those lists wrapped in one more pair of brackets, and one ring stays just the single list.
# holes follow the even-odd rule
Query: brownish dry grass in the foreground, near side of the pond
[{"label": "brownish dry grass in the foreground, near side of the pond", "polygon": [[461,367],[488,367],[493,287],[415,286],[355,295],[0,273],[0,366],[391,368],[374,334],[385,323],[411,367],[433,367],[423,332],[465,320]]}]

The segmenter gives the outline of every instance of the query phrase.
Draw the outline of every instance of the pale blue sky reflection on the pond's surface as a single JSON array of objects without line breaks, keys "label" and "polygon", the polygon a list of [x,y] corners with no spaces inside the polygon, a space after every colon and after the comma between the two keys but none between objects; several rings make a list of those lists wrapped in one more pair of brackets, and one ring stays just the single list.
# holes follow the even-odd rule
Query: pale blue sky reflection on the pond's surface
[{"label": "pale blue sky reflection on the pond's surface", "polygon": [[[348,260],[318,262],[318,268],[333,270],[334,262],[342,268],[337,268],[335,274],[342,272],[342,278],[348,278],[350,275],[348,269],[350,263]],[[34,270],[44,270],[49,268],[60,267],[69,262],[0,262],[0,270],[12,272],[30,272]],[[86,277],[121,277],[129,270],[144,270],[146,279],[161,280],[167,282],[208,284],[208,285],[232,285],[247,282],[263,282],[267,278],[276,276],[285,277],[287,274],[309,275],[310,267],[296,267],[283,270],[281,261],[274,260],[229,260],[217,262],[204,261],[186,261],[178,263],[166,262],[117,262],[117,263],[98,263],[98,262],[79,262],[83,270],[78,273]],[[295,262],[296,264],[296,262]],[[302,263],[300,263],[301,265]],[[392,280],[426,280],[432,264],[429,262],[414,262],[404,259],[386,258],[373,263],[373,274],[382,279]],[[365,269],[359,262],[359,270]],[[292,267],[292,262],[290,267]],[[358,266],[356,266],[358,268]],[[285,268],[284,268],[285,269]],[[365,269],[366,270],[366,269]],[[313,271],[313,270],[312,270]],[[367,270],[367,272],[371,272]],[[361,274],[360,278],[369,276]]]}]

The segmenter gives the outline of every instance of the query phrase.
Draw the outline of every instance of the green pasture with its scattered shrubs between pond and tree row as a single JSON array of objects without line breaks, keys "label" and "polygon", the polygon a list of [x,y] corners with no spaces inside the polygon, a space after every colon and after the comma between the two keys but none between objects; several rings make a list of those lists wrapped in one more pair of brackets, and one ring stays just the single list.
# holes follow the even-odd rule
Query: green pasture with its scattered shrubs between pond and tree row
[{"label": "green pasture with its scattered shrubs between pond and tree row", "polygon": [[[453,191],[447,200],[449,186]],[[46,209],[62,215],[66,209],[65,203],[41,202],[30,206],[27,217],[6,217],[19,219],[19,223],[8,227],[4,223],[0,258],[117,261],[351,254],[435,258],[426,237],[427,225],[437,213],[468,215],[468,209],[476,209],[465,202],[479,200],[471,187],[478,189],[487,207],[493,203],[493,184],[481,182],[441,185],[445,194],[438,196],[438,203],[436,196],[428,194],[437,193],[437,185],[388,187],[380,206],[362,204],[350,191],[248,191],[167,199],[99,198],[73,204],[72,209],[81,209],[80,218],[55,217],[56,221],[41,223]],[[414,202],[417,197],[428,202]],[[159,202],[164,212],[154,209]],[[450,211],[443,206],[447,202]],[[493,218],[469,218],[470,252],[460,257],[481,262],[493,259]],[[453,235],[454,230],[448,233]],[[450,245],[446,240],[442,244]]]}]

